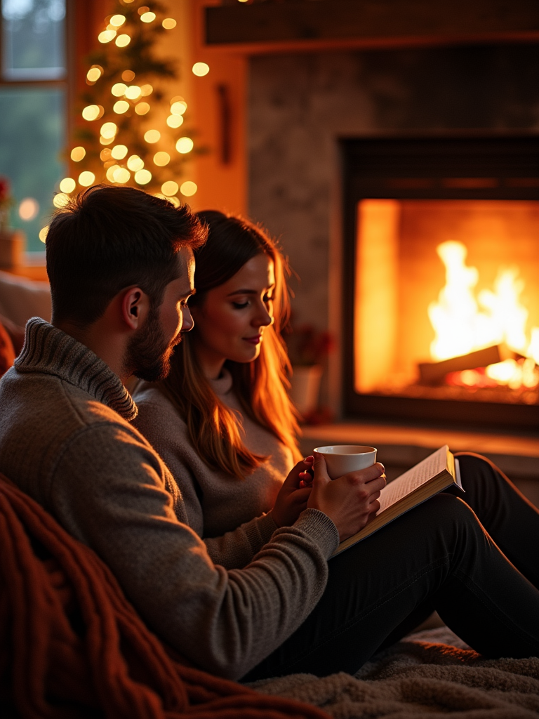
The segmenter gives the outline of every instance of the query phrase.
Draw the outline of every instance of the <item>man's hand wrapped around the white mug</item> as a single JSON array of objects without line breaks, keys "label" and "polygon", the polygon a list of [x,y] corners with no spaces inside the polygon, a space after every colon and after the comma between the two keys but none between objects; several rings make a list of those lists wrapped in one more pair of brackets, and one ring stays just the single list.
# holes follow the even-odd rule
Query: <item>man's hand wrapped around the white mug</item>
[{"label": "man's hand wrapped around the white mug", "polygon": [[333,520],[340,541],[359,532],[380,508],[378,498],[385,487],[384,465],[372,467],[330,480],[321,454],[314,461],[313,488],[308,498],[310,509],[319,509]]}]

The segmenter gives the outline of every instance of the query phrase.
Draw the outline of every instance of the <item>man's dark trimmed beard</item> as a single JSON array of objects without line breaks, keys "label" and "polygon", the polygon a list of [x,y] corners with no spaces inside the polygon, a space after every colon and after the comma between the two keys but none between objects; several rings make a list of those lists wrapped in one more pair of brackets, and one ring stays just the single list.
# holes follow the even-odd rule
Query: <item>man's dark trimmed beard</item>
[{"label": "man's dark trimmed beard", "polygon": [[129,339],[124,367],[129,374],[147,382],[164,380],[170,372],[170,357],[181,334],[167,342],[157,307],[151,307],[144,325]]}]

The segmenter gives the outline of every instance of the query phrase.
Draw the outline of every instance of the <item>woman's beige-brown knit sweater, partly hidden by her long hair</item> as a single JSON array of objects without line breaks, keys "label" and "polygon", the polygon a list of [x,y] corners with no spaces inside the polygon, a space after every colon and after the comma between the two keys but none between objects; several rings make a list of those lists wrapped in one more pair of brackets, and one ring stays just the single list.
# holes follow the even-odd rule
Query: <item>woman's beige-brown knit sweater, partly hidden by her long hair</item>
[{"label": "woman's beige-brown knit sweater, partly hidden by her long hair", "polygon": [[135,393],[139,413],[134,425],[172,472],[189,526],[203,537],[213,562],[236,569],[250,562],[277,528],[267,512],[275,504],[293,459],[290,449],[274,434],[241,413],[230,372],[224,370],[211,385],[236,411],[247,448],[269,457],[244,480],[208,467],[191,444],[185,422],[157,387],[142,385]]}]

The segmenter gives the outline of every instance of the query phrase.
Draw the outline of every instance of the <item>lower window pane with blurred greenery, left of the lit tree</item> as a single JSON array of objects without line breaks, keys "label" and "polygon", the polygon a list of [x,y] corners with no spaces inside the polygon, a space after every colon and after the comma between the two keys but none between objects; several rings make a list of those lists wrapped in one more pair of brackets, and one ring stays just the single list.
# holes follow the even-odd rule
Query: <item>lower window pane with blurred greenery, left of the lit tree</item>
[{"label": "lower window pane with blurred greenery, left of the lit tree", "polygon": [[[0,175],[11,180],[11,226],[23,229],[27,250],[42,252],[52,194],[65,175],[65,92],[59,88],[0,88]],[[32,202],[33,201],[33,202]]]}]

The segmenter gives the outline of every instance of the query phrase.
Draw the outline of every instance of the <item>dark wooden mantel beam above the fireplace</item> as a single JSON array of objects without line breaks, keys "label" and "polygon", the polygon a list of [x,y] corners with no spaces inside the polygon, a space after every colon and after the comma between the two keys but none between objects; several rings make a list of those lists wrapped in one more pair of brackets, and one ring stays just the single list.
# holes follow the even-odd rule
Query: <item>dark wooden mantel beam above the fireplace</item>
[{"label": "dark wooden mantel beam above the fireplace", "polygon": [[244,52],[539,41],[539,0],[285,0],[205,13],[206,45]]}]

